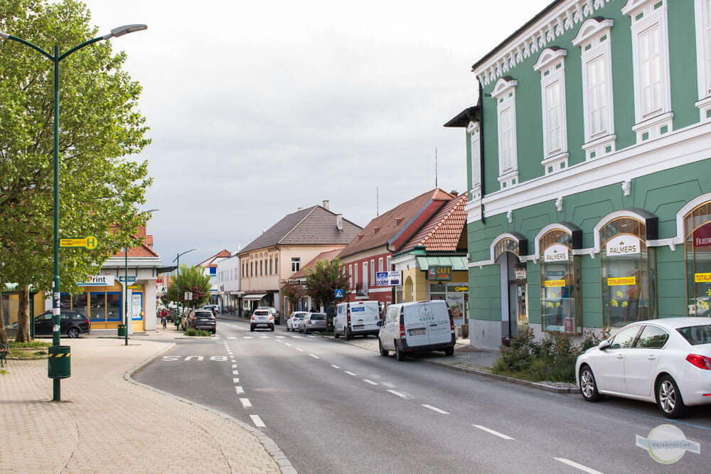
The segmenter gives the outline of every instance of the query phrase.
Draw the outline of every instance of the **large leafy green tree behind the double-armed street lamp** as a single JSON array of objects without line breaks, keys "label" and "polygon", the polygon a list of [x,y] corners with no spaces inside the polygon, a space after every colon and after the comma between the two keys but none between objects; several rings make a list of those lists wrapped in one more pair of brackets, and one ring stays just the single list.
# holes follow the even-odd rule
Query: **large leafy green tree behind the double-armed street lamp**
[{"label": "large leafy green tree behind the double-armed street lamp", "polygon": [[[98,36],[77,0],[0,2],[0,31],[60,52]],[[139,212],[152,179],[129,160],[149,144],[137,112],[141,87],[107,41],[60,63],[60,237],[92,235],[96,249],[60,251],[60,289],[95,274],[149,216]],[[28,285],[53,279],[53,65],[16,41],[0,41],[0,285],[21,289],[18,341],[29,338]],[[0,333],[0,337],[2,334]]]}]

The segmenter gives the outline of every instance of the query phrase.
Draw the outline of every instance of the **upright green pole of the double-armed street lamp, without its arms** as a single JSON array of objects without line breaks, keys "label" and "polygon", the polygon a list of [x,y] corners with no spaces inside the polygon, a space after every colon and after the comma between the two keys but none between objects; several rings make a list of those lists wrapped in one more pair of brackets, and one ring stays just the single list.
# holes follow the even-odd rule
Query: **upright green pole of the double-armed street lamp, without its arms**
[{"label": "upright green pole of the double-armed street lamp, without its arms", "polygon": [[[52,345],[59,345],[60,284],[59,284],[59,45],[54,45],[54,288],[52,305]],[[61,379],[53,379],[52,399],[62,399]]]}]

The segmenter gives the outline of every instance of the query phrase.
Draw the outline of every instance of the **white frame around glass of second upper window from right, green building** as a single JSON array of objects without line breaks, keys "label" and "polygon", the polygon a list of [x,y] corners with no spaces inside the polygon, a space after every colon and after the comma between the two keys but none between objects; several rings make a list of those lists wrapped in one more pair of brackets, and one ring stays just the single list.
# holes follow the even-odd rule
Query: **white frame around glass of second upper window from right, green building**
[{"label": "white frame around glass of second upper window from right, green building", "polygon": [[[667,20],[668,0],[629,0],[622,7],[622,13],[632,21],[632,65],[634,71],[634,117],[632,130],[637,143],[658,138],[672,131],[671,87],[669,78],[669,27]],[[644,109],[642,64],[640,42],[643,36],[658,28],[659,80],[660,92],[658,108]]]}]

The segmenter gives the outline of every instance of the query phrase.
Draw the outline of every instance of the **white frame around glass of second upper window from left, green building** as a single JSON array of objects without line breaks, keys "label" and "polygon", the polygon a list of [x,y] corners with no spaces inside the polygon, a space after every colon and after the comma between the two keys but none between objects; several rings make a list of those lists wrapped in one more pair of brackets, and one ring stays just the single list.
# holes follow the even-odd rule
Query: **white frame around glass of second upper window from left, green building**
[{"label": "white frame around glass of second upper window from left, green building", "polygon": [[[516,140],[516,86],[518,81],[513,77],[501,77],[496,81],[491,97],[496,100],[497,133],[498,133],[498,182],[501,188],[510,188],[518,184],[518,153]],[[510,112],[510,141],[502,136],[503,114]],[[510,146],[510,166],[503,163],[503,155]]]}]

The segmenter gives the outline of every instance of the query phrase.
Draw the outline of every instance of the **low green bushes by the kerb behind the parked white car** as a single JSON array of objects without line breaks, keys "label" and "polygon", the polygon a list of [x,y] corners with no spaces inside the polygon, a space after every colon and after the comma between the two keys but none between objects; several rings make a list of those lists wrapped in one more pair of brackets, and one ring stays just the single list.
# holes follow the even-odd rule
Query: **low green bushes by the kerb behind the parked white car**
[{"label": "low green bushes by the kerb behind the parked white car", "polygon": [[600,343],[598,336],[589,330],[582,343],[575,345],[572,338],[562,334],[547,335],[540,341],[533,329],[518,335],[508,347],[501,347],[501,357],[494,362],[492,371],[533,382],[575,382],[575,360],[589,348]]}]

